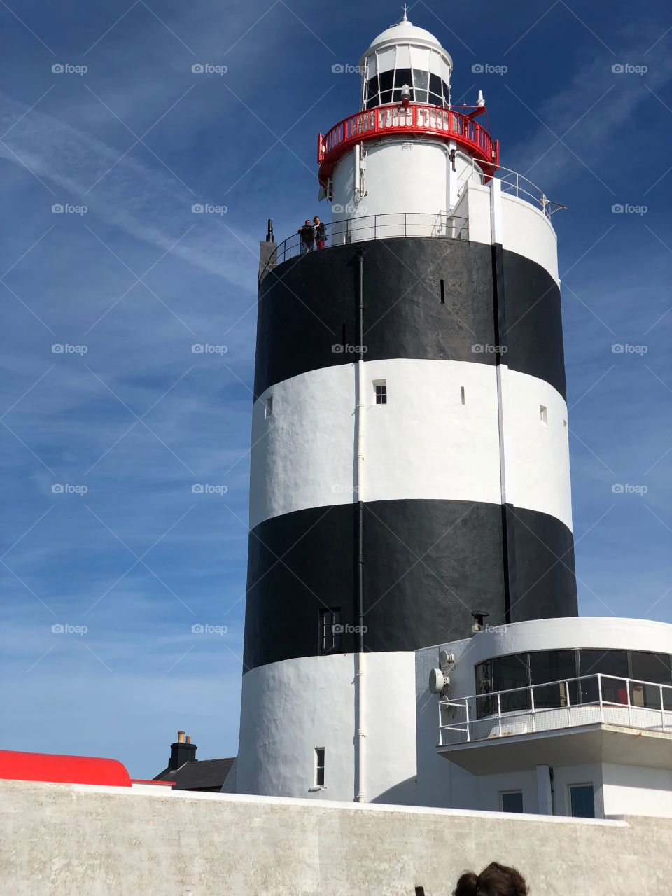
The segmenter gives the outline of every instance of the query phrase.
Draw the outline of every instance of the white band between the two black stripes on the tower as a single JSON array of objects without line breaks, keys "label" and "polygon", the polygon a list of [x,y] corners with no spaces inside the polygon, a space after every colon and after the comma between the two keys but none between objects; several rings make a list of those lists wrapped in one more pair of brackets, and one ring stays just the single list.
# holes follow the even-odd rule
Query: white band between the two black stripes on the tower
[{"label": "white band between the two black stripes on the tower", "polygon": [[[501,503],[494,366],[391,358],[367,361],[366,501]],[[543,380],[504,371],[507,500],[572,528],[567,408]],[[385,405],[374,380],[387,380]],[[271,386],[254,402],[250,528],[308,507],[351,504],[355,365],[324,367]],[[465,403],[461,403],[461,389]],[[273,414],[265,417],[272,395]],[[539,407],[548,409],[548,425]]]}]

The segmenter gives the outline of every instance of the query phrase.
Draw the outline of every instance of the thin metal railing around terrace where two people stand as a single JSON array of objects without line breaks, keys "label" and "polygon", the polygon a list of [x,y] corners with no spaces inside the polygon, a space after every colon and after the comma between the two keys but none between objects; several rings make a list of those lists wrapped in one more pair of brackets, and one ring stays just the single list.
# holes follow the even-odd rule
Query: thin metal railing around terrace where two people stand
[{"label": "thin metal railing around terrace where two people stand", "polygon": [[[326,247],[345,246],[371,239],[391,237],[444,237],[447,239],[469,239],[466,218],[457,218],[446,211],[434,213],[423,211],[399,211],[383,215],[365,215],[362,218],[347,218],[325,225]],[[271,254],[259,280],[276,265],[289,258],[308,252],[321,252],[314,243],[306,246],[301,235],[295,233]]]}]

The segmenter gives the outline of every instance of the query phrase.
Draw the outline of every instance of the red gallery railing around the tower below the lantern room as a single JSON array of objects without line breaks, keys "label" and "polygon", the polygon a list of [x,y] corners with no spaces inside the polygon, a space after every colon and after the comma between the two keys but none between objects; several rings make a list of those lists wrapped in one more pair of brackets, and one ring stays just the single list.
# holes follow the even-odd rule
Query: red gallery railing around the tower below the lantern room
[{"label": "red gallery railing around the tower below the lantern room", "polygon": [[[355,143],[375,140],[381,134],[431,134],[461,144],[470,155],[495,168],[499,162],[499,144],[487,130],[461,112],[439,106],[399,103],[377,106],[344,118],[326,134],[317,137],[317,163],[320,183],[326,186],[333,167]],[[491,169],[486,175],[489,180]]]}]

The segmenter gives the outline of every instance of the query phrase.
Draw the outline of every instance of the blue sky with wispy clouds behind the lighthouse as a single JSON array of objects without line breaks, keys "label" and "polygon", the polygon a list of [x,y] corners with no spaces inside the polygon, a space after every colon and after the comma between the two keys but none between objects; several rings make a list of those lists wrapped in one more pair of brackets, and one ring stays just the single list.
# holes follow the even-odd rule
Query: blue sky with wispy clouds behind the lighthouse
[{"label": "blue sky with wispy clouds behind the lighthouse", "polygon": [[[329,218],[316,134],[357,111],[347,65],[400,17],[0,3],[4,748],[136,778],[177,729],[236,754],[259,241]],[[581,613],[672,622],[668,4],[418,0],[409,20],[452,54],[453,102],[483,90],[502,164],[568,206]]]}]

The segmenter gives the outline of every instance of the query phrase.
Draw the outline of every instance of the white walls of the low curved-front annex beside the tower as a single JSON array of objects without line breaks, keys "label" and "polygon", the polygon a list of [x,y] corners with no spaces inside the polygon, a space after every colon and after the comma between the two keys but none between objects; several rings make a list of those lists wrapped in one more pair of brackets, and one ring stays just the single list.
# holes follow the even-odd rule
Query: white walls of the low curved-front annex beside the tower
[{"label": "white walls of the low curved-front annex beside the tower", "polygon": [[[523,788],[527,802],[537,798],[536,781],[523,787],[519,774],[487,776],[483,779],[436,754],[438,743],[438,697],[428,687],[429,673],[437,665],[439,650],[455,654],[449,694],[466,697],[476,694],[475,667],[485,659],[523,650],[650,650],[672,652],[672,625],[645,619],[616,619],[583,616],[567,619],[538,619],[531,622],[497,626],[462,641],[439,644],[416,651],[416,701],[418,736],[418,805],[490,808],[502,778],[512,782],[506,789]],[[605,785],[602,786],[604,768]],[[668,772],[638,770],[635,767],[573,766],[554,769],[556,814],[566,814],[566,788],[569,784],[592,781],[596,807],[606,814],[642,813],[655,803],[655,814],[672,814]],[[611,770],[611,771],[609,771]],[[530,774],[533,770],[530,769]],[[590,775],[590,777],[585,777]],[[583,776],[583,777],[582,777]],[[636,781],[644,783],[637,784]],[[666,784],[667,782],[667,784]],[[645,787],[649,792],[645,792]],[[526,789],[527,788],[527,789]],[[530,796],[528,799],[528,790]],[[659,795],[662,794],[660,797]],[[526,810],[527,811],[527,810]]]}]

